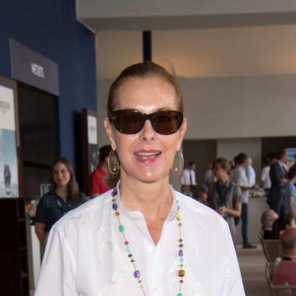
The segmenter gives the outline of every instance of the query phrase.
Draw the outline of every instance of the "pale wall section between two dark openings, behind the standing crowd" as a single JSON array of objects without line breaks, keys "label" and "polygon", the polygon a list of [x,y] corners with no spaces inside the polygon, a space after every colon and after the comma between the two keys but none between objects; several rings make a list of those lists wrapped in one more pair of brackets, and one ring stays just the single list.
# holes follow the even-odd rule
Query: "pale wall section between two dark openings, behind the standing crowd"
[{"label": "pale wall section between two dark openings, behind the standing crowd", "polygon": [[259,182],[262,159],[261,138],[217,140],[217,157],[226,157],[231,160],[241,152],[253,159],[253,167],[256,171],[256,181]]}]

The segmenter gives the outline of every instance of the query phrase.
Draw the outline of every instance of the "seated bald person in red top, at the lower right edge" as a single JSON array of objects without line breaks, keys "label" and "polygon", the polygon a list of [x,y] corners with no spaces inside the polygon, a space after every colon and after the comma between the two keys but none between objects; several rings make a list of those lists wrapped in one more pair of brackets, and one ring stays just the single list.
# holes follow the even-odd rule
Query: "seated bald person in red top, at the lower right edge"
[{"label": "seated bald person in red top, at the lower right edge", "polygon": [[274,283],[296,285],[296,228],[284,231],[281,237],[283,248],[282,259],[276,269]]}]

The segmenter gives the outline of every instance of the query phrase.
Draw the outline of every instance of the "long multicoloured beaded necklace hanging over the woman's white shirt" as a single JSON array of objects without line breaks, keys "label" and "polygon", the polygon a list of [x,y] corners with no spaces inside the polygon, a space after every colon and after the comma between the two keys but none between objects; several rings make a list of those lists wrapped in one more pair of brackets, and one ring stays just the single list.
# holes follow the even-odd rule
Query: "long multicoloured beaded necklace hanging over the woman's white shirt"
[{"label": "long multicoloured beaded necklace hanging over the woman's white shirt", "polygon": [[[133,254],[131,253],[131,248],[129,246],[129,241],[127,240],[126,235],[125,235],[125,227],[121,224],[121,221],[120,221],[120,218],[119,218],[120,214],[118,212],[118,205],[116,203],[117,202],[117,200],[116,200],[117,193],[118,193],[117,188],[114,187],[113,191],[111,192],[111,195],[112,195],[112,208],[115,211],[115,216],[116,216],[116,218],[118,220],[118,224],[119,224],[118,230],[119,230],[120,233],[122,233],[122,236],[124,237],[124,243],[125,243],[126,248],[127,248],[126,250],[128,252],[128,257],[131,260],[132,266],[133,266],[133,268],[135,270],[134,271],[134,278],[138,281],[139,287],[142,290],[143,295],[146,296],[144,286],[143,286],[142,280],[141,280],[141,273],[137,269],[137,265],[135,264],[135,259],[133,258]],[[177,203],[178,203],[178,201],[177,201]],[[183,249],[182,249],[183,248],[183,239],[182,239],[182,233],[181,233],[181,227],[182,227],[181,219],[182,219],[182,216],[181,216],[181,213],[179,212],[179,210],[180,210],[180,206],[178,205],[177,206],[177,214],[175,215],[175,218],[179,221],[178,222],[178,227],[179,227],[179,236],[180,236],[180,238],[179,238],[179,241],[178,241],[178,243],[179,243],[178,256],[180,257],[180,259],[179,259],[179,262],[180,262],[179,267],[180,267],[180,269],[178,270],[178,277],[180,278],[180,281],[179,281],[180,282],[180,289],[179,289],[179,293],[177,294],[177,296],[182,296],[183,295],[182,294],[182,284],[184,282],[183,277],[185,276],[185,270],[183,269],[183,262],[184,262],[183,255],[184,255],[184,253],[183,253]]]}]

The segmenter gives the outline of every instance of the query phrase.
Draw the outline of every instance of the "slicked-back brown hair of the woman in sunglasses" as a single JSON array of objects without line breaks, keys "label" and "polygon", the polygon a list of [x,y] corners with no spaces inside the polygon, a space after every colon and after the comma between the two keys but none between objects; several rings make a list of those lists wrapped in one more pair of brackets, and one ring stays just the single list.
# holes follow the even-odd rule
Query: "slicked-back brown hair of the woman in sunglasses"
[{"label": "slicked-back brown hair of the woman in sunglasses", "polygon": [[[123,85],[126,81],[130,79],[146,79],[146,78],[153,78],[157,77],[160,78],[166,82],[168,82],[172,87],[174,87],[176,91],[176,97],[177,97],[177,106],[178,111],[184,112],[184,106],[183,106],[183,99],[181,95],[181,91],[178,85],[177,80],[174,76],[172,76],[170,73],[166,71],[166,69],[158,64],[155,64],[153,62],[143,62],[131,65],[124,69],[120,75],[115,79],[115,81],[112,83],[109,95],[108,95],[108,103],[107,103],[107,112],[112,113],[115,111],[115,102],[116,98],[118,96],[118,90],[121,85]],[[105,178],[106,184],[112,188],[114,187],[118,180],[119,180],[119,174],[111,175],[109,174]]]}]

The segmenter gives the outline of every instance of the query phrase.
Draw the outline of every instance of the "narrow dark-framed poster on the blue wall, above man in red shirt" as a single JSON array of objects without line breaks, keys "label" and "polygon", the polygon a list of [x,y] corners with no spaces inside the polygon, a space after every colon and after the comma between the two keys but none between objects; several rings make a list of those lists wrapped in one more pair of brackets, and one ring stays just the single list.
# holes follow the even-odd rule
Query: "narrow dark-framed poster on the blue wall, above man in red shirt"
[{"label": "narrow dark-framed poster on the blue wall, above man in red shirt", "polygon": [[98,165],[97,113],[82,109],[83,188],[88,194],[89,175]]}]

